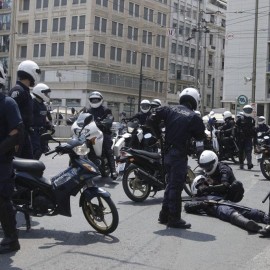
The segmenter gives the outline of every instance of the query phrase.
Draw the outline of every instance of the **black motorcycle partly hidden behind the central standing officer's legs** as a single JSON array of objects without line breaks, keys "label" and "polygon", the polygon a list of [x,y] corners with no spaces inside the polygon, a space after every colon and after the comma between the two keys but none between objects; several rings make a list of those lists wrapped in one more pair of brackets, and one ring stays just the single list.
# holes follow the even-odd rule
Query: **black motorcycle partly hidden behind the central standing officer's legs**
[{"label": "black motorcycle partly hidden behind the central standing officer's legs", "polygon": [[[163,158],[160,153],[125,148],[121,151],[120,163],[125,164],[122,185],[125,194],[134,202],[142,202],[150,192],[165,190],[167,184]],[[192,196],[191,185],[195,178],[194,172],[188,167],[185,192]]]}]

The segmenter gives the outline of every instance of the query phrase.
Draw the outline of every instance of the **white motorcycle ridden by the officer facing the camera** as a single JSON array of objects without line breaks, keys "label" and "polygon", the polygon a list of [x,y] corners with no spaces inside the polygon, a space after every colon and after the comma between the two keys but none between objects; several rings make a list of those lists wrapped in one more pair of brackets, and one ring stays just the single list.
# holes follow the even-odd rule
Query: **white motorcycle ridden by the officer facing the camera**
[{"label": "white motorcycle ridden by the officer facing the camera", "polygon": [[[91,114],[89,113],[81,113],[77,120],[71,126],[71,131],[73,133],[73,138],[77,138],[78,134],[81,133],[81,129],[84,125],[84,120],[89,117]],[[87,147],[89,148],[89,153],[87,154],[87,158],[91,160],[101,172],[103,177],[109,177],[111,175],[109,162],[106,156],[103,153],[103,132],[99,127],[102,125],[111,126],[113,122],[112,118],[105,119],[104,121],[96,122],[92,118],[92,121],[88,123],[82,133],[87,139]],[[112,146],[114,148],[114,145]]]}]

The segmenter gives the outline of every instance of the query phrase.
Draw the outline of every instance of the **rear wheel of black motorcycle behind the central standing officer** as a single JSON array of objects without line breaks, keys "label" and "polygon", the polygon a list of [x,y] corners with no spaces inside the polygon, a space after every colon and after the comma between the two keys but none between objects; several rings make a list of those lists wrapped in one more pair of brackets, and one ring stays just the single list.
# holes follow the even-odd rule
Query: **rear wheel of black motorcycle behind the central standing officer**
[{"label": "rear wheel of black motorcycle behind the central standing officer", "polygon": [[122,185],[125,194],[134,202],[143,202],[150,194],[151,185],[135,175],[137,166],[131,164],[125,170]]}]

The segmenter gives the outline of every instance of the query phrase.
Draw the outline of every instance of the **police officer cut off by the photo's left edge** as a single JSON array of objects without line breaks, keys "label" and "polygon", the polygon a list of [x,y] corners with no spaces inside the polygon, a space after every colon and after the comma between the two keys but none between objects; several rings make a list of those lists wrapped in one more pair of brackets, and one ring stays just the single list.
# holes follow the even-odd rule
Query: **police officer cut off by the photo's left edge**
[{"label": "police officer cut off by the photo's left edge", "polygon": [[[0,65],[1,87],[5,79],[4,69]],[[20,249],[11,197],[14,191],[12,159],[16,146],[22,141],[22,133],[23,123],[17,103],[0,93],[0,222],[4,232],[0,254]]]}]

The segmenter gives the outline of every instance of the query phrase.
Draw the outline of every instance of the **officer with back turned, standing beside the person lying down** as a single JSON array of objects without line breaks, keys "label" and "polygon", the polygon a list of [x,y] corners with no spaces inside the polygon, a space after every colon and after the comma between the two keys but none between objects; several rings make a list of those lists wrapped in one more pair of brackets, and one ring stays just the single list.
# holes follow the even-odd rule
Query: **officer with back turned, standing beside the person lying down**
[{"label": "officer with back turned, standing beside the person lying down", "polygon": [[[187,174],[188,141],[204,139],[204,124],[194,110],[200,95],[195,88],[184,89],[179,96],[180,105],[157,108],[148,121],[157,134],[161,121],[165,124],[164,165],[168,184],[165,189],[159,222],[168,227],[190,228],[191,224],[181,218],[181,193]],[[158,134],[157,134],[158,136]]]}]

